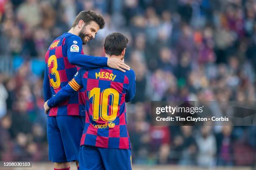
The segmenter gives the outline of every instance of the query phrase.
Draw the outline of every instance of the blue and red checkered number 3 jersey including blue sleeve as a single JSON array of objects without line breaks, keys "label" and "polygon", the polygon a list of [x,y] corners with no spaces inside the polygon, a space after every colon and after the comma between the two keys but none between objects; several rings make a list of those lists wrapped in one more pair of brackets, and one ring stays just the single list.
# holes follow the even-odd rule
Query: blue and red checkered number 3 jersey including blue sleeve
[{"label": "blue and red checkered number 3 jersey including blue sleeve", "polygon": [[[72,33],[64,33],[49,46],[45,55],[44,100],[49,100],[62,87],[68,84],[79,70],[79,66],[87,68],[107,65],[106,57],[83,55],[82,40]],[[83,91],[74,93],[68,100],[53,107],[48,116],[82,115],[84,116],[85,99]]]}]

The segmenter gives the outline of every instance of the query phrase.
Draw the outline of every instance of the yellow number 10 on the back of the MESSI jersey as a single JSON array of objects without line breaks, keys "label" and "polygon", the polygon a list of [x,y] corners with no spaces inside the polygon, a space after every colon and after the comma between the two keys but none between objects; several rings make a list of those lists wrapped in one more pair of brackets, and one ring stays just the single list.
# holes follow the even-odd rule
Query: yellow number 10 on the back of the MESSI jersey
[{"label": "yellow number 10 on the back of the MESSI jersey", "polygon": [[[108,99],[110,97],[110,110],[111,113],[108,115]],[[92,117],[93,120],[99,120],[99,115],[102,120],[105,122],[112,122],[115,120],[118,112],[118,101],[119,101],[119,93],[117,90],[113,88],[107,88],[103,90],[100,94],[100,88],[94,87],[90,92],[89,92],[89,99],[92,97],[92,105],[93,105],[93,113]],[[100,102],[101,98],[101,102]],[[100,111],[100,112],[99,112]],[[100,113],[100,114],[99,114]]]}]

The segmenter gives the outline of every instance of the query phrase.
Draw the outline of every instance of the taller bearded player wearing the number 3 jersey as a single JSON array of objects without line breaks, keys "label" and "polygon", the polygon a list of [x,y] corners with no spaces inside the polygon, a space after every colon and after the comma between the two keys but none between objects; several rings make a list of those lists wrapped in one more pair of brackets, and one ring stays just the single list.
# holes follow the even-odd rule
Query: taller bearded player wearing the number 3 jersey
[{"label": "taller bearded player wearing the number 3 jersey", "polygon": [[[69,32],[57,37],[49,46],[45,55],[44,100],[54,96],[68,84],[78,70],[78,66],[96,68],[109,66],[129,70],[118,58],[94,57],[83,55],[82,44],[95,38],[105,21],[100,14],[82,11],[74,20]],[[77,90],[78,91],[78,90]],[[77,161],[79,144],[84,128],[83,91],[76,92],[69,100],[53,107],[47,118],[47,138],[49,160],[54,162],[54,169],[69,170],[69,162]],[[77,162],[77,168],[79,168]]]}]

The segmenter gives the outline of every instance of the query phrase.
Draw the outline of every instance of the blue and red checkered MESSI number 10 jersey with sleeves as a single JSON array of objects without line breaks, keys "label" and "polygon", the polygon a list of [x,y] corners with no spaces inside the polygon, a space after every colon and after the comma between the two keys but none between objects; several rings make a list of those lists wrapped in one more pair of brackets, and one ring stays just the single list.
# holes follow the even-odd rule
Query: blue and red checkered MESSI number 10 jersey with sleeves
[{"label": "blue and red checkered MESSI number 10 jersey with sleeves", "polygon": [[135,95],[133,70],[121,72],[110,67],[79,70],[48,105],[52,107],[82,87],[85,96],[85,126],[80,145],[129,149],[125,102]]}]

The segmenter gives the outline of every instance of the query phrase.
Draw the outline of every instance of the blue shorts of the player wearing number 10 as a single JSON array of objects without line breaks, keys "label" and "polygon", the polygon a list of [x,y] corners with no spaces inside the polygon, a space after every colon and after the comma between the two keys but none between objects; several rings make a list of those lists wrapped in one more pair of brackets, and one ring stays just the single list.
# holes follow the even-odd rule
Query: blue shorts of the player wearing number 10
[{"label": "blue shorts of the player wearing number 10", "polygon": [[80,170],[131,170],[131,149],[108,149],[82,145]]}]

